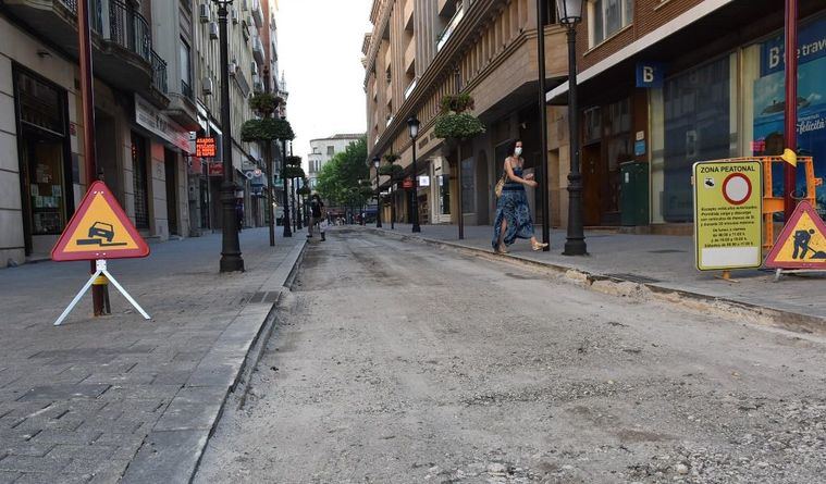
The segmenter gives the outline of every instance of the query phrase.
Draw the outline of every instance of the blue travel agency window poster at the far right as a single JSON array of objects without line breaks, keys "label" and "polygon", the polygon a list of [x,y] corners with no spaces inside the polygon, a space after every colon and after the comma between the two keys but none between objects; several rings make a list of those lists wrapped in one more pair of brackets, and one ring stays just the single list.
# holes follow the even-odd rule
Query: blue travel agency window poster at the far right
[{"label": "blue travel agency window poster at the far right", "polygon": [[[761,77],[754,83],[754,156],[785,148],[785,48],[782,37],[762,46]],[[798,67],[798,151],[814,157],[815,176],[826,176],[826,18],[801,26]],[[782,165],[772,173],[773,190],[782,193]],[[805,194],[805,173],[798,170],[798,191]],[[817,211],[826,213],[826,190],[817,189]]]}]

